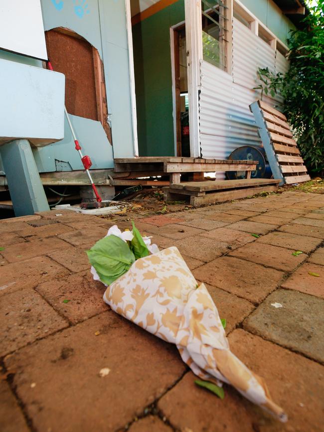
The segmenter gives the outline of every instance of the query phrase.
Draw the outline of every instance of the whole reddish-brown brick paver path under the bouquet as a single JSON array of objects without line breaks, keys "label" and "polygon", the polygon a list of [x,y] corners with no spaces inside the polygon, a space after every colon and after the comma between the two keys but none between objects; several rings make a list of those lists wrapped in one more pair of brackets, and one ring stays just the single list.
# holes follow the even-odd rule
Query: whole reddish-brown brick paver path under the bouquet
[{"label": "whole reddish-brown brick paver path under the bouquet", "polygon": [[[51,211],[0,221],[0,431],[323,431],[324,196],[291,191],[137,219],[206,284],[232,351],[289,422],[229,386],[224,400],[196,387],[174,346],[103,302],[84,250],[112,221]],[[130,227],[124,215],[119,226]]]}]

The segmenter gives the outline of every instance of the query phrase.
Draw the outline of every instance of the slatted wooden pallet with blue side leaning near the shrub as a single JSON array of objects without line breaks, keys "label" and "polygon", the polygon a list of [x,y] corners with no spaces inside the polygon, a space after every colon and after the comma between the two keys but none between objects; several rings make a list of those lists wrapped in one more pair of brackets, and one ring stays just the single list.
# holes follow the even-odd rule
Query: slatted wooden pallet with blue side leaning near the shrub
[{"label": "slatted wooden pallet with blue side leaning near the shrub", "polygon": [[263,101],[253,102],[250,110],[274,178],[280,180],[280,185],[310,180],[286,116]]}]

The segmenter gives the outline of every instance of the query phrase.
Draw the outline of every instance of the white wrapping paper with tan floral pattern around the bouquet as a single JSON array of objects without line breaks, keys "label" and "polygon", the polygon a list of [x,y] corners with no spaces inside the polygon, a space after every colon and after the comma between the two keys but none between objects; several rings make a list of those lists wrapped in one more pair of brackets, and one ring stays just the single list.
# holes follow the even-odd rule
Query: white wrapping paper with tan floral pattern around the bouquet
[{"label": "white wrapping paper with tan floral pattern around the bouquet", "polygon": [[174,343],[182,360],[200,378],[231,384],[253,403],[287,420],[263,380],[230,351],[207,288],[197,285],[177,248],[137,260],[107,288],[104,301],[115,312]]}]

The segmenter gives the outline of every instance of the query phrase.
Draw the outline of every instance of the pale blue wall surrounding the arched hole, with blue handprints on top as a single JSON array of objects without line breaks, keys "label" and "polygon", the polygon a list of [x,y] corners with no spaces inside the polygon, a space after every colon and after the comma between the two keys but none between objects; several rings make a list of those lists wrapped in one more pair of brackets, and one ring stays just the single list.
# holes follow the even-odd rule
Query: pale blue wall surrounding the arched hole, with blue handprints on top
[{"label": "pale blue wall surrounding the arched hole, with blue handprints on top", "polygon": [[[103,60],[113,147],[100,122],[71,118],[84,154],[91,156],[91,168],[112,168],[114,156],[134,155],[125,1],[41,0],[41,6],[45,31],[70,28],[97,48]],[[39,60],[3,50],[0,58],[42,67]],[[65,166],[72,169],[83,169],[66,120],[64,140],[33,148],[33,153],[39,172],[55,171],[55,159],[68,162]]]}]

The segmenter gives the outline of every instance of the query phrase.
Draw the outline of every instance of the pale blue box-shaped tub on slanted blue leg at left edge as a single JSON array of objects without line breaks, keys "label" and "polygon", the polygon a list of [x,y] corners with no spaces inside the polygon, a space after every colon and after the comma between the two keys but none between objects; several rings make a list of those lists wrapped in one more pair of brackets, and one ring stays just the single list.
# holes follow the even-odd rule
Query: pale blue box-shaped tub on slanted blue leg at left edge
[{"label": "pale blue box-shaped tub on slanted blue leg at left edge", "polygon": [[63,74],[0,59],[0,77],[0,143],[23,137],[46,145],[64,137]]}]

